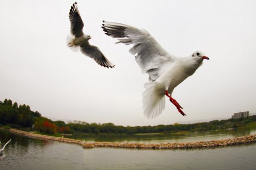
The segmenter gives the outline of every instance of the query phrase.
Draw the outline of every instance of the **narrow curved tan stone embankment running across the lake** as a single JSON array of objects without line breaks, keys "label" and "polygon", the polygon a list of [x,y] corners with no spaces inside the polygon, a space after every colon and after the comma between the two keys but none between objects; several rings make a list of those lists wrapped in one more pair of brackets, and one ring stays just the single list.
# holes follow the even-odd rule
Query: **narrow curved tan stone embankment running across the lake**
[{"label": "narrow curved tan stone embankment running across the lake", "polygon": [[108,147],[108,148],[126,148],[126,149],[189,149],[189,148],[213,148],[227,145],[238,145],[243,143],[256,142],[255,135],[241,136],[231,139],[180,142],[180,143],[126,143],[126,142],[82,142],[79,139],[70,139],[65,137],[55,137],[35,134],[34,132],[25,132],[16,129],[9,129],[9,132],[24,135],[27,137],[36,137],[41,139],[56,140],[67,143],[80,144],[83,148]]}]

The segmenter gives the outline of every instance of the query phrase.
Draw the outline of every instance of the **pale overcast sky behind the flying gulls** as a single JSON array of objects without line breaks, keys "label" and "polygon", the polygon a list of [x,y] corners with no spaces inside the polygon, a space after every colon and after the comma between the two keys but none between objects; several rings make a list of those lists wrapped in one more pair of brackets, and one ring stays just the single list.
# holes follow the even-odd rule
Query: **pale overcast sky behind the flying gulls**
[{"label": "pale overcast sky behind the flying gulls", "polygon": [[[26,104],[43,116],[124,126],[174,124],[256,112],[256,1],[77,1],[84,33],[116,65],[99,66],[66,45],[74,1],[1,1],[0,101]],[[173,92],[187,116],[166,100],[147,119],[147,75],[104,35],[102,20],[147,30],[170,54],[200,50],[210,60]]]}]

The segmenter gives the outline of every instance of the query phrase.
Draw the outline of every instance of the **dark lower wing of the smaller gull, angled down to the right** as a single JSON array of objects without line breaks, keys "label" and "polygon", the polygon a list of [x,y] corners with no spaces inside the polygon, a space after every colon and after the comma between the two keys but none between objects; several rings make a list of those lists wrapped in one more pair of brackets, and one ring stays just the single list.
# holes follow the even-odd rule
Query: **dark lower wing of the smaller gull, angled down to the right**
[{"label": "dark lower wing of the smaller gull, angled down to the right", "polygon": [[99,50],[97,46],[91,45],[88,43],[83,43],[80,45],[80,51],[82,54],[91,57],[94,59],[99,65],[107,68],[115,67]]}]

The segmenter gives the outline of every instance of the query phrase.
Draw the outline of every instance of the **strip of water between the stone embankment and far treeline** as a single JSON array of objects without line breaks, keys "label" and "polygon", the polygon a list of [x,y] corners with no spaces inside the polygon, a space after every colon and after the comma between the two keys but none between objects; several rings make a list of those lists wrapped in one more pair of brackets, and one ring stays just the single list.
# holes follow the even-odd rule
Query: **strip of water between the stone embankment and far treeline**
[{"label": "strip of water between the stone embankment and far treeline", "polygon": [[110,141],[110,142],[144,142],[144,143],[164,143],[164,142],[194,142],[205,140],[219,140],[256,134],[256,126],[247,126],[237,129],[216,130],[207,132],[196,132],[187,134],[138,134],[138,135],[88,135],[76,133],[69,138],[81,139],[84,142]]}]

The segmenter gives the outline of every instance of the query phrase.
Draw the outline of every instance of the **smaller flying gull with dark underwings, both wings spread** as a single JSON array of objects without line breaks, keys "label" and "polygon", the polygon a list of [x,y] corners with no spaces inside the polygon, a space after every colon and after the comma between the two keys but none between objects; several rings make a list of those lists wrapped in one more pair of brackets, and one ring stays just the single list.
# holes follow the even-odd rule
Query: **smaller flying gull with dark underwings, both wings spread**
[{"label": "smaller flying gull with dark underwings, both wings spread", "polygon": [[91,45],[89,39],[90,35],[83,34],[83,21],[78,11],[77,3],[75,2],[69,12],[69,20],[71,23],[70,32],[72,34],[67,36],[67,45],[71,50],[78,52],[78,48],[82,54],[94,59],[99,65],[106,68],[115,67],[99,50],[97,46]]}]

